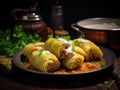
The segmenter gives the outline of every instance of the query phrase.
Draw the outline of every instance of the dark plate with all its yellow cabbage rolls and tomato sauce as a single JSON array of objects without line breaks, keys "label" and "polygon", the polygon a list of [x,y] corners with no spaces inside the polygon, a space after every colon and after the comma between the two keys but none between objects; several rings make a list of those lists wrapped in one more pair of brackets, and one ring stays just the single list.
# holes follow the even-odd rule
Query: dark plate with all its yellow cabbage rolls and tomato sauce
[{"label": "dark plate with all its yellow cabbage rolls and tomato sauce", "polygon": [[14,55],[13,64],[44,78],[61,76],[80,78],[101,74],[101,71],[104,73],[112,71],[115,58],[111,50],[98,46],[88,39],[49,38],[45,42],[26,45]]}]

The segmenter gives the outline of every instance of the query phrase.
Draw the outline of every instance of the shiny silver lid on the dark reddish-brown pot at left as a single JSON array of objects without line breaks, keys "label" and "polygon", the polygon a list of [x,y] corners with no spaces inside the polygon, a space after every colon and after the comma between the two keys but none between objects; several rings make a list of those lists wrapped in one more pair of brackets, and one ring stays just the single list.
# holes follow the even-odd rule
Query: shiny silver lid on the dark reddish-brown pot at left
[{"label": "shiny silver lid on the dark reddish-brown pot at left", "polygon": [[39,21],[41,20],[41,15],[37,15],[36,13],[27,13],[21,17],[20,20],[23,21]]}]

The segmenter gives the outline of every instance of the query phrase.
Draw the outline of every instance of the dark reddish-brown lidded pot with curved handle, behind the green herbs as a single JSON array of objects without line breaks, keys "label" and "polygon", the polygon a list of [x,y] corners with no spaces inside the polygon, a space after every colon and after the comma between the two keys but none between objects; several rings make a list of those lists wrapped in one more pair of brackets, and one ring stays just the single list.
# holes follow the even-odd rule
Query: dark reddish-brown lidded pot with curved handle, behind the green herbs
[{"label": "dark reddish-brown lidded pot with curved handle, behind the green herbs", "polygon": [[35,8],[14,9],[12,16],[16,20],[16,25],[22,25],[27,34],[37,33],[43,41],[47,40],[48,28],[41,15],[35,13]]}]

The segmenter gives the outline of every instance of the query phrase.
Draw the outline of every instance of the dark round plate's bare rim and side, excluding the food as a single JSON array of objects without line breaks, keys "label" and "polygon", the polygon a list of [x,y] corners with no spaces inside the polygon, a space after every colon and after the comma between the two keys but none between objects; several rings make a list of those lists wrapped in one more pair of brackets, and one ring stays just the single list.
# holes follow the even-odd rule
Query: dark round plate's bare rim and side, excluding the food
[{"label": "dark round plate's bare rim and side, excluding the food", "polygon": [[92,80],[93,82],[97,80],[106,79],[111,75],[112,69],[113,69],[113,64],[115,62],[116,56],[115,54],[105,48],[105,47],[100,47],[101,50],[103,51],[103,57],[101,58],[106,66],[100,70],[93,71],[93,72],[88,72],[88,73],[82,73],[82,74],[52,74],[52,73],[44,73],[40,71],[33,71],[26,69],[21,66],[22,63],[22,51],[17,52],[14,57],[13,57],[13,64],[19,68],[22,71],[25,71],[29,73],[28,75],[32,74],[35,75],[35,77],[38,77],[42,80],[51,80],[51,81],[82,81],[82,82],[89,82]]}]

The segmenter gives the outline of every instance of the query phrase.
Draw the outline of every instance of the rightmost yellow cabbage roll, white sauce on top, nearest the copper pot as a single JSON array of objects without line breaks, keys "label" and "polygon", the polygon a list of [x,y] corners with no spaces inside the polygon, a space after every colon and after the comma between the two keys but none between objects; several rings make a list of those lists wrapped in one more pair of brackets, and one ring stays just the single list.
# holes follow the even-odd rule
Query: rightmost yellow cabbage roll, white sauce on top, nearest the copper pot
[{"label": "rightmost yellow cabbage roll, white sauce on top, nearest the copper pot", "polygon": [[79,46],[85,51],[86,61],[96,60],[103,56],[103,52],[101,51],[101,49],[90,40],[78,38],[78,39],[74,39],[73,42],[76,46]]}]

